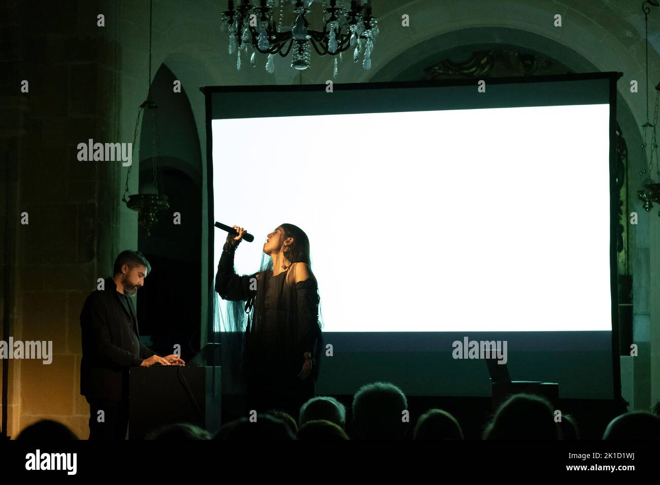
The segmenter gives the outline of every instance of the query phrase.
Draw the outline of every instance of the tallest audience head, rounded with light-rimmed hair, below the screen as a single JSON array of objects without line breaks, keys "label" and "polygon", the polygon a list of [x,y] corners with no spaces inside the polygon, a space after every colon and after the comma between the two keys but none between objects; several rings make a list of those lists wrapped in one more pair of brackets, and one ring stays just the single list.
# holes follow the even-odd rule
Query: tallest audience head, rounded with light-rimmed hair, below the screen
[{"label": "tallest audience head, rounded with light-rimmed hair, below the screen", "polygon": [[389,382],[364,385],[353,397],[353,428],[362,439],[401,439],[407,409],[405,394],[397,386]]}]

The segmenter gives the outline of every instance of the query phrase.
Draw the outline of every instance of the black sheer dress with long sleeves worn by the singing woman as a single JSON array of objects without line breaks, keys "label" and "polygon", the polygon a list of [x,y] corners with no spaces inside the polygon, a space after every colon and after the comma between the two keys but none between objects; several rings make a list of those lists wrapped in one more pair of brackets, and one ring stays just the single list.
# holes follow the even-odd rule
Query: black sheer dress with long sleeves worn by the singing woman
[{"label": "black sheer dress with long sleeves worn by the singing woman", "polygon": [[[248,412],[279,409],[297,419],[300,406],[314,397],[323,348],[317,282],[314,278],[294,282],[294,265],[275,276],[271,267],[239,276],[234,271],[235,249],[232,243],[224,246],[215,290],[224,300],[246,302],[234,312],[232,326],[245,332],[240,379],[246,387]],[[312,355],[313,365],[303,380],[298,374],[305,352]]]}]

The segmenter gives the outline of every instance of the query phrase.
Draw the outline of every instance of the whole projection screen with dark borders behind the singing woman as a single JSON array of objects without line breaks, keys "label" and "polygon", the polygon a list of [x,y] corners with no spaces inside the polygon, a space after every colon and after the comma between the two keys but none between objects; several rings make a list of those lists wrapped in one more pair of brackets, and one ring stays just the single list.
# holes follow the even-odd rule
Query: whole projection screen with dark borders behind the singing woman
[{"label": "whole projection screen with dark borders behind the singing woman", "polygon": [[485,81],[203,88],[210,227],[255,235],[237,273],[284,222],[310,238],[318,393],[490,395],[483,360],[456,358],[471,341],[562,398],[618,392],[616,77]]}]

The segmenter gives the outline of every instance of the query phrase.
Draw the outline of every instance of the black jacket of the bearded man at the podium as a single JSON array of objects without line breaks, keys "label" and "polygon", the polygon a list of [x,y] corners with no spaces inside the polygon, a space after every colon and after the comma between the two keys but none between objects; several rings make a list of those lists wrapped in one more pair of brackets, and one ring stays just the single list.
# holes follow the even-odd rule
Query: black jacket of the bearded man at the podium
[{"label": "black jacket of the bearded man at the podium", "polygon": [[106,278],[105,290],[96,290],[84,302],[81,311],[82,360],[81,394],[87,399],[121,401],[128,397],[128,369],[139,366],[155,352],[140,344],[140,355],[130,352],[131,332],[135,330],[117,285]]}]

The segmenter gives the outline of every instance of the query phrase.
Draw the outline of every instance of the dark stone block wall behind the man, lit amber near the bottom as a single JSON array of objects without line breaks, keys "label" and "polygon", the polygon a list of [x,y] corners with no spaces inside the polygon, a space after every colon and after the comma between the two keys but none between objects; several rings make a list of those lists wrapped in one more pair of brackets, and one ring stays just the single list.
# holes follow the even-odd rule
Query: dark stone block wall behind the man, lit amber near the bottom
[{"label": "dark stone block wall behind the man, lit amber near the bottom", "polygon": [[[52,418],[86,438],[79,315],[96,278],[112,269],[119,170],[113,162],[80,162],[77,145],[113,141],[117,46],[85,1],[15,1],[5,9],[0,22],[16,55],[3,62],[16,67],[3,86],[3,170],[11,174],[2,185],[11,246],[3,284],[12,290],[3,305],[15,340],[53,342],[51,364],[7,361],[7,432],[16,437],[32,422]],[[26,93],[22,80],[29,83]],[[28,224],[21,223],[22,212]]]}]

